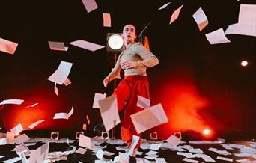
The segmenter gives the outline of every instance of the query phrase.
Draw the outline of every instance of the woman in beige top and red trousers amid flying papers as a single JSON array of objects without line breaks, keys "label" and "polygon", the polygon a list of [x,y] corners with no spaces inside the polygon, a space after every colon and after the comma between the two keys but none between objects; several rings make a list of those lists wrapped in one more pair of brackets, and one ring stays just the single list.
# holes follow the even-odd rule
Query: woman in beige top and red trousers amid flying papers
[{"label": "woman in beige top and red trousers amid flying papers", "polygon": [[[136,132],[130,115],[143,110],[137,106],[138,95],[150,99],[146,70],[147,67],[159,64],[159,61],[141,43],[135,42],[137,36],[134,25],[125,25],[122,36],[124,38],[124,51],[118,56],[114,69],[103,80],[103,84],[106,87],[122,69],[124,70],[124,79],[118,84],[113,95],[117,95],[118,111],[124,108],[121,138],[123,141],[127,141],[127,145],[130,147],[132,135],[141,136]],[[139,146],[140,141],[130,156],[129,162],[136,162],[135,156]]]}]

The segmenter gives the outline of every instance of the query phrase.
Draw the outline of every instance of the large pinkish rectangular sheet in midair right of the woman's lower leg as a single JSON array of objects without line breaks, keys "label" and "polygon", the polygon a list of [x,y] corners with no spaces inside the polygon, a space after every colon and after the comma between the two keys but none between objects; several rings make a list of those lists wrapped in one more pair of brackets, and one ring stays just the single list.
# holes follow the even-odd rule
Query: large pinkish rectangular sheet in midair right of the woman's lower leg
[{"label": "large pinkish rectangular sheet in midair right of the woman's lower leg", "polygon": [[153,105],[148,109],[132,114],[131,119],[138,133],[168,122],[161,104]]}]

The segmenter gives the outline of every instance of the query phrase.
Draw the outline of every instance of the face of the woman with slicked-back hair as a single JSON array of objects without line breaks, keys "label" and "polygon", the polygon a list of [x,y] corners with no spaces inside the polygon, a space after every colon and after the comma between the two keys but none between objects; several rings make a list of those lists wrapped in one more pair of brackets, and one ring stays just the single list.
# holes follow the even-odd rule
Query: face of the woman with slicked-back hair
[{"label": "face of the woman with slicked-back hair", "polygon": [[123,37],[126,43],[132,43],[136,39],[136,29],[133,25],[125,25],[123,29]]}]

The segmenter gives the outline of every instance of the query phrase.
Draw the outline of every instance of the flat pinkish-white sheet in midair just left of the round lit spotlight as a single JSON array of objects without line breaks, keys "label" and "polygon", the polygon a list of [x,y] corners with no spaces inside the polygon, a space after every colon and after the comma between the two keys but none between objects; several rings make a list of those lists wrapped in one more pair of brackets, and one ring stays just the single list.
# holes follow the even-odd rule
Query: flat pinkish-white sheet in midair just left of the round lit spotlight
[{"label": "flat pinkish-white sheet in midair just left of the round lit spotlight", "polygon": [[105,46],[100,46],[96,43],[90,43],[90,42],[85,41],[85,40],[76,40],[76,41],[71,42],[70,44],[73,45],[73,46],[77,46],[79,48],[82,48],[82,49],[90,50],[92,52],[105,47]]}]

